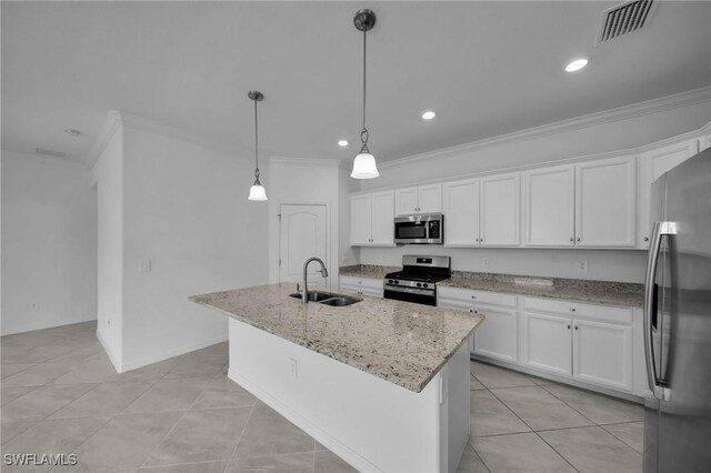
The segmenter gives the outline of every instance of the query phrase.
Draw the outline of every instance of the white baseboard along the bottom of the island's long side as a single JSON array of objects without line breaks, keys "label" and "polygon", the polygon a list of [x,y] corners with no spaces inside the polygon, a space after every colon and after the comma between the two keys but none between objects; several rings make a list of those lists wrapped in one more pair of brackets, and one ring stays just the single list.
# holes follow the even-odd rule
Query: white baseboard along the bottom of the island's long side
[{"label": "white baseboard along the bottom of the island's long side", "polygon": [[260,386],[257,385],[250,379],[241,376],[240,374],[233,372],[232,370],[228,370],[228,378],[240,386],[244,388],[247,391],[252,393],[257,399],[262,401],[264,404],[269,405],[271,409],[283,415],[289,422],[297,425],[299,429],[311,435],[317,440],[320,444],[329,449],[331,452],[336,453],[338,456],[343,459],[351,466],[361,472],[380,472],[378,466],[373,465],[367,459],[362,457],[350,447],[339,442],[337,439],[331,436],[329,433],[323,431],[321,427],[311,423],[308,419],[304,419],[297,411],[288,406],[287,404],[279,401],[277,397],[271,395],[270,393],[263,391]]}]

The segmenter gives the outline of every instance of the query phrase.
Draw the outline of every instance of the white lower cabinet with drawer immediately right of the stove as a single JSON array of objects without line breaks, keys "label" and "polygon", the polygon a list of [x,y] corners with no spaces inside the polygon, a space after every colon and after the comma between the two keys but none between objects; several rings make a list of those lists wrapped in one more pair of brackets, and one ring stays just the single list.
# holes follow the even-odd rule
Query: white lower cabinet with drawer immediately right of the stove
[{"label": "white lower cabinet with drawer immediately right of the stove", "polygon": [[437,305],[479,312],[484,322],[474,331],[472,353],[509,363],[518,361],[517,296],[458,288],[438,288]]}]

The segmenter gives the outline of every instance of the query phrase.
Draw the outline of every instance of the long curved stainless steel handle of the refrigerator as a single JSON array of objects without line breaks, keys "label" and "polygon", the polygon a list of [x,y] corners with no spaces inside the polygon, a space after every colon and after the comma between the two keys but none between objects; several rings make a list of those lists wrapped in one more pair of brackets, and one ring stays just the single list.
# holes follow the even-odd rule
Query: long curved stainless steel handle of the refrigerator
[{"label": "long curved stainless steel handle of the refrigerator", "polygon": [[652,238],[649,245],[647,260],[647,278],[644,280],[644,358],[647,360],[647,381],[654,397],[669,400],[670,391],[657,376],[657,361],[654,360],[654,346],[652,343],[652,323],[657,318],[652,311],[657,311],[657,291],[654,280],[657,279],[657,264],[659,262],[659,250],[662,244],[662,236],[677,234],[674,222],[654,222]]}]

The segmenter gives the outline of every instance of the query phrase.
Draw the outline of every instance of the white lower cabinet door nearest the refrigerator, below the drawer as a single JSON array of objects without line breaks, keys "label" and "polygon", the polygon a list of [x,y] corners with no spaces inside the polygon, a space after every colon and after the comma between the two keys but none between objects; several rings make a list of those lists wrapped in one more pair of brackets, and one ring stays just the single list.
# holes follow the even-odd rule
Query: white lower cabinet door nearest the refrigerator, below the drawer
[{"label": "white lower cabinet door nearest the refrigerator, below the drawer", "polygon": [[632,391],[632,328],[573,321],[573,378]]}]

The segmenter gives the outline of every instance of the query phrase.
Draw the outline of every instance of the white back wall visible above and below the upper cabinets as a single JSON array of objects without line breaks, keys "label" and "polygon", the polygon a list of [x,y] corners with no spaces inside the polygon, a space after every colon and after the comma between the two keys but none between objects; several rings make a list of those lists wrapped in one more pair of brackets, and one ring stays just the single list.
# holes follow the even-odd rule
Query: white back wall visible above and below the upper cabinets
[{"label": "white back wall visible above and below the upper cabinets", "polygon": [[[709,122],[710,107],[711,89],[702,89],[463,147],[381,162],[378,164],[380,178],[362,181],[359,190],[457,180],[470,174],[634,149],[701,129]],[[449,254],[452,269],[460,271],[638,283],[643,281],[645,263],[645,252],[640,250],[448,249],[435,245],[361,248],[359,262],[400,265],[403,253]],[[581,261],[588,262],[588,271],[578,270],[577,263]]]}]

